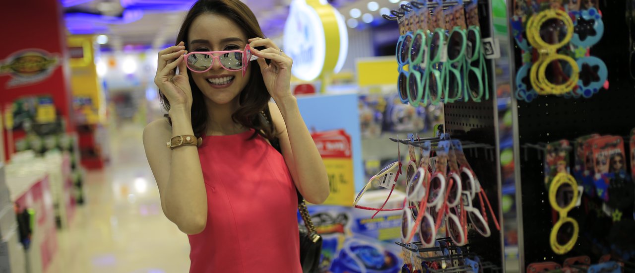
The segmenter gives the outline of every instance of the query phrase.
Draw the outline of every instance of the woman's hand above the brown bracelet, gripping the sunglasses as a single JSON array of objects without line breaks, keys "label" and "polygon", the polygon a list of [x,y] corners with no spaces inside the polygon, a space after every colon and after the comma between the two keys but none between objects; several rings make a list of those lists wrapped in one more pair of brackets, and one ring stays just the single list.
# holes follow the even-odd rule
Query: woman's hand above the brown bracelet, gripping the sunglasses
[{"label": "woman's hand above the brown bracelet, gripping the sunglasses", "polygon": [[[187,77],[185,54],[187,51],[183,42],[159,51],[154,83],[170,102],[171,109],[192,107],[192,89]],[[178,74],[175,73],[176,67],[178,67]]]}]

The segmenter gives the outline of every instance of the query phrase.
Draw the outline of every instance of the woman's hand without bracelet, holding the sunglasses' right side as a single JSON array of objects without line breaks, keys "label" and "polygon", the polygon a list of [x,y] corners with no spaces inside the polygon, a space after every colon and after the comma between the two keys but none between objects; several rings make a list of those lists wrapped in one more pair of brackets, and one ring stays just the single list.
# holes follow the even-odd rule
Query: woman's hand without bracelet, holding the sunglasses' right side
[{"label": "woman's hand without bracelet, holding the sunglasses' right side", "polygon": [[[262,79],[265,81],[265,86],[269,95],[271,95],[276,102],[282,100],[285,97],[290,97],[291,94],[291,64],[293,60],[288,57],[280,48],[274,44],[271,39],[262,39],[260,37],[252,38],[248,40],[251,46],[251,53],[258,56],[258,65],[260,65],[260,72],[262,72]],[[264,50],[256,50],[255,47],[264,46]],[[271,60],[269,64],[265,59]]]}]

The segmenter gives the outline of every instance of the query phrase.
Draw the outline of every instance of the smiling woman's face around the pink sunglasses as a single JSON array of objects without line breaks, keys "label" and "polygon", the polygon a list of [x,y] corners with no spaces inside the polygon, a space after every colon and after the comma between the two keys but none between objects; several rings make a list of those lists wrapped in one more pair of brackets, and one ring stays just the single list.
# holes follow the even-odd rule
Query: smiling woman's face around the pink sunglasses
[{"label": "smiling woman's face around the pink sunglasses", "polygon": [[[246,34],[226,17],[211,13],[203,14],[192,22],[188,33],[188,52],[240,50],[248,44]],[[241,71],[225,70],[218,59],[213,60],[211,69],[203,73],[188,71],[194,83],[206,98],[216,104],[232,102],[247,85],[251,67],[246,74]]]}]

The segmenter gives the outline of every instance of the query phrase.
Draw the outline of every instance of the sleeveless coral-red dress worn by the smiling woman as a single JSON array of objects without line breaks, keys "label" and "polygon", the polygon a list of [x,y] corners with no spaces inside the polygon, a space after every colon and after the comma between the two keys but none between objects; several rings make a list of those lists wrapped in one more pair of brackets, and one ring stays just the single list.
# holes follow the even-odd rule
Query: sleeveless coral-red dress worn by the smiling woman
[{"label": "sleeveless coral-red dress worn by the smiling woman", "polygon": [[190,273],[302,273],[298,199],[284,158],[253,130],[198,148],[208,215],[191,235]]}]

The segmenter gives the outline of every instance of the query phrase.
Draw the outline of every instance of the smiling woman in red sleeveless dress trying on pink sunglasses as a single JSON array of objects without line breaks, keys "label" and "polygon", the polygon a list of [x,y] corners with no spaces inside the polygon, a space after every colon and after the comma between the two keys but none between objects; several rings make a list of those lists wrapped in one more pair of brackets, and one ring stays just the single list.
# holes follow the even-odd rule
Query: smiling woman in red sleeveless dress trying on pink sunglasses
[{"label": "smiling woman in red sleeveless dress trying on pink sunglasses", "polygon": [[316,204],[329,193],[292,60],[262,37],[241,1],[200,0],[159,52],[168,115],[147,125],[144,147],[164,214],[189,234],[190,272],[302,272],[296,189]]}]

